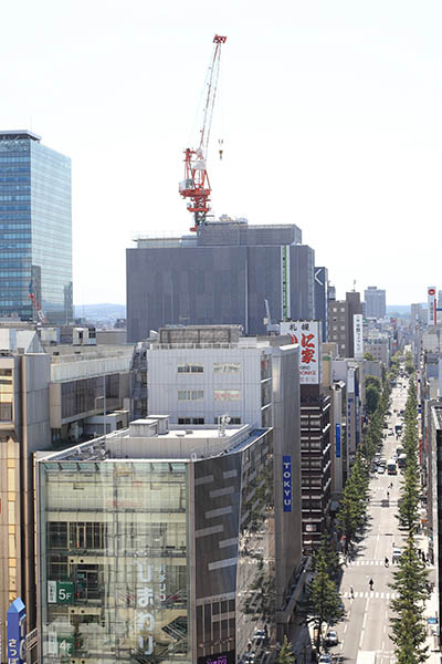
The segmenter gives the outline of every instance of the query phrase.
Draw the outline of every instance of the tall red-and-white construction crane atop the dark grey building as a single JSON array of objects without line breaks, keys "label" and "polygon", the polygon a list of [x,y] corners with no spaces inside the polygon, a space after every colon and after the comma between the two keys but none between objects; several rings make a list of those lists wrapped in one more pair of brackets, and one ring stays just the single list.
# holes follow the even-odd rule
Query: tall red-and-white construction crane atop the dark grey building
[{"label": "tall red-and-white construction crane atop the dark grey building", "polygon": [[[200,141],[197,149],[185,149],[185,179],[179,184],[179,193],[188,198],[187,209],[193,214],[194,226],[190,229],[197,231],[198,227],[206,224],[210,210],[210,181],[206,167],[208,156],[210,127],[212,124],[213,106],[217,96],[218,77],[220,74],[221,45],[227,37],[215,34],[213,38],[213,55],[209,66],[206,105],[203,111]],[[220,158],[222,158],[222,141],[220,141]]]}]

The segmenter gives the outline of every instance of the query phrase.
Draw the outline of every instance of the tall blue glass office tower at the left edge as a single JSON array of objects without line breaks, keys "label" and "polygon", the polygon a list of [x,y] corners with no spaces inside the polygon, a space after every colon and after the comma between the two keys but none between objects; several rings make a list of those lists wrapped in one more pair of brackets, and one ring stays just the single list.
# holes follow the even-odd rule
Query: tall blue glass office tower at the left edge
[{"label": "tall blue glass office tower at the left edge", "polygon": [[0,132],[0,317],[62,324],[72,311],[71,159]]}]

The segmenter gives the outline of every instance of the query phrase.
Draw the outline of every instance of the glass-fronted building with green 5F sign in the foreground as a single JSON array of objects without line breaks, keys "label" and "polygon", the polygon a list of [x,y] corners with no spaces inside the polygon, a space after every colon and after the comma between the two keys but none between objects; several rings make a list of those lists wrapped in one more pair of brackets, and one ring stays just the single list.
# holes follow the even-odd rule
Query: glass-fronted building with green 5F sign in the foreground
[{"label": "glass-fronted building with green 5F sign in the foreground", "polygon": [[271,428],[167,416],[40,458],[40,661],[275,652],[273,474]]}]

